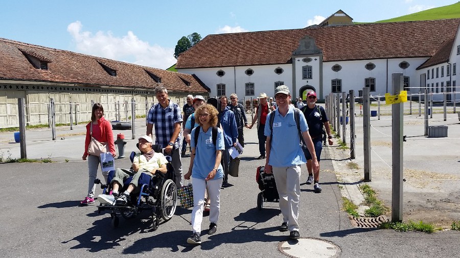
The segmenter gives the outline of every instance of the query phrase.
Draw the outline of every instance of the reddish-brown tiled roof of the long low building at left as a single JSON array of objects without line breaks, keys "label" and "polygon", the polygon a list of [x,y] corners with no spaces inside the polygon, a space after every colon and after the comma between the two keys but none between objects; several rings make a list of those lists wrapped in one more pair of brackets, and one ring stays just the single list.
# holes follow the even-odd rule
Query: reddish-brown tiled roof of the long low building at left
[{"label": "reddish-brown tiled roof of the long low building at left", "polygon": [[[48,62],[48,70],[35,68],[28,61],[26,55]],[[116,70],[117,76],[109,75],[100,63]],[[159,84],[146,71],[161,78],[161,83],[169,91],[190,93],[209,91],[205,85],[202,85],[202,82],[197,81],[191,74],[134,65],[0,38],[0,79],[154,89]],[[181,78],[190,82],[190,86],[187,86]]]}]

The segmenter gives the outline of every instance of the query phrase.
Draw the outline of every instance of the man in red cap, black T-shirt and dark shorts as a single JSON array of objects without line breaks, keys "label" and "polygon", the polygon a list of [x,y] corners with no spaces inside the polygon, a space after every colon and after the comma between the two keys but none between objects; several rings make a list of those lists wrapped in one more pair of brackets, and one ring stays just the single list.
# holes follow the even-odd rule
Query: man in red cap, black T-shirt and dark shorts
[{"label": "man in red cap, black T-shirt and dark shorts", "polygon": [[[304,112],[305,119],[307,119],[308,124],[308,133],[313,141],[315,146],[315,153],[318,163],[321,157],[321,150],[323,150],[323,125],[326,127],[326,132],[329,136],[329,145],[333,144],[331,127],[329,126],[329,120],[326,115],[326,111],[323,107],[316,105],[317,97],[316,92],[310,91],[307,93],[307,106],[305,106],[302,111]],[[319,186],[319,169],[314,173],[313,180],[313,171],[311,168],[311,155],[310,153],[305,153],[305,158],[307,159],[307,170],[308,178],[307,184],[311,185],[314,182],[313,189],[316,193],[321,192],[321,187]]]}]

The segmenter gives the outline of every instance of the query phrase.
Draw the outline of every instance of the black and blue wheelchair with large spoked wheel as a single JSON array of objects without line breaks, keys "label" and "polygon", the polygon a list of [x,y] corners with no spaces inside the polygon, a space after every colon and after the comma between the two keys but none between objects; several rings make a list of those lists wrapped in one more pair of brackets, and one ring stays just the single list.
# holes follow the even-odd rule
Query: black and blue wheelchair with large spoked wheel
[{"label": "black and blue wheelchair with large spoked wheel", "polygon": [[[160,145],[152,145],[152,148],[155,152],[162,152]],[[130,155],[131,163],[134,156],[135,152],[133,151]],[[118,227],[120,223],[119,215],[125,219],[132,219],[142,211],[150,212],[153,230],[158,228],[160,221],[163,220],[167,222],[172,218],[176,211],[177,187],[175,184],[174,168],[171,165],[171,157],[165,157],[168,160],[166,174],[159,171],[155,173],[153,177],[142,174],[139,178],[141,190],[139,193],[130,194],[126,206],[107,205],[102,203],[97,206],[99,214],[102,211],[110,211],[112,228]],[[95,183],[101,185],[103,194],[107,194],[111,190],[110,181],[114,175],[115,171],[111,170],[108,174],[107,185],[103,185],[100,179],[95,179]],[[125,180],[124,187],[120,189],[120,193],[126,190],[131,179],[132,176]]]}]

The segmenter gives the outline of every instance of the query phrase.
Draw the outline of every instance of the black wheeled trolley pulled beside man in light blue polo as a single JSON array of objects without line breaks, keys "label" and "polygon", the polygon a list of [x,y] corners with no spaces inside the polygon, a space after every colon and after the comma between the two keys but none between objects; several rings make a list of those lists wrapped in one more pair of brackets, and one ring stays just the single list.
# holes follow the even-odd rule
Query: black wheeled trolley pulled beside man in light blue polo
[{"label": "black wheeled trolley pulled beside man in light blue polo", "polygon": [[257,168],[256,182],[259,185],[260,193],[257,195],[257,208],[262,210],[264,201],[278,202],[280,196],[278,195],[277,184],[275,183],[273,174],[265,173],[265,167]]}]

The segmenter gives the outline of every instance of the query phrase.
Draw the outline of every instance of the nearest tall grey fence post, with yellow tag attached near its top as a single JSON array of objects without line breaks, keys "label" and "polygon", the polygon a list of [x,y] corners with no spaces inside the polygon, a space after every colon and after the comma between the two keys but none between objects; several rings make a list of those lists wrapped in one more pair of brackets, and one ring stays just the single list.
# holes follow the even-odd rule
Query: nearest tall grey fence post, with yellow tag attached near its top
[{"label": "nearest tall grey fence post, with yellow tag attached near its top", "polygon": [[[403,90],[404,76],[393,73],[393,94],[399,95]],[[392,105],[392,221],[403,219],[403,135],[404,135],[404,102]]]}]

